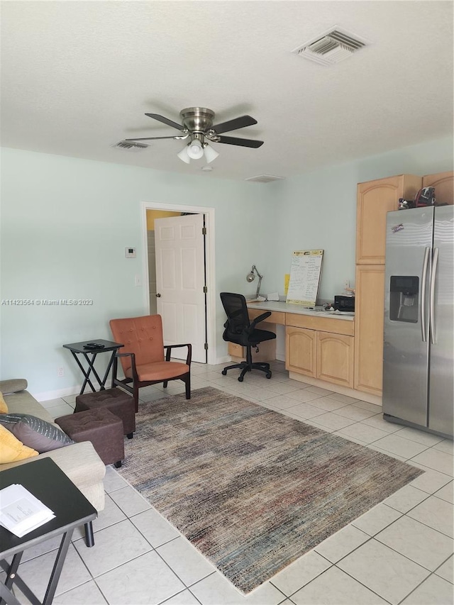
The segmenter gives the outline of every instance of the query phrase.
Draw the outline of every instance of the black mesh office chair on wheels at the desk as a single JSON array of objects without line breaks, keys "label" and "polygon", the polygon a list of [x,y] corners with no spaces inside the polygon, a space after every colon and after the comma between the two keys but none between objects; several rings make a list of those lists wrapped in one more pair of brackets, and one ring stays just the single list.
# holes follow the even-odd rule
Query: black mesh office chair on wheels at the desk
[{"label": "black mesh office chair on wheels at the desk", "polygon": [[256,317],[252,323],[249,321],[248,307],[243,294],[233,294],[232,292],[221,292],[221,301],[223,308],[227,314],[227,321],[224,323],[224,333],[222,338],[228,343],[235,343],[246,348],[246,360],[233,365],[228,365],[222,370],[222,374],[226,376],[227,370],[232,370],[234,367],[239,367],[241,374],[238,377],[240,382],[243,382],[246,372],[252,370],[261,370],[265,372],[267,378],[271,378],[270,364],[265,362],[253,362],[252,347],[257,347],[264,340],[272,340],[276,338],[274,332],[267,330],[256,330],[255,326],[265,318],[270,317],[271,311],[266,311]]}]

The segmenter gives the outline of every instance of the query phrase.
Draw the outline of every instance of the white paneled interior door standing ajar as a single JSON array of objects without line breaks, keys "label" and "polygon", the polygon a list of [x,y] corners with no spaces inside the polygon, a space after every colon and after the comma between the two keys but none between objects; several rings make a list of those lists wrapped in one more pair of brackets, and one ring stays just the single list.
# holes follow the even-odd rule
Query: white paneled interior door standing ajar
[{"label": "white paneled interior door standing ajar", "polygon": [[[192,344],[192,360],[206,363],[204,215],[155,219],[157,313],[166,345]],[[172,350],[184,359],[186,350]]]}]

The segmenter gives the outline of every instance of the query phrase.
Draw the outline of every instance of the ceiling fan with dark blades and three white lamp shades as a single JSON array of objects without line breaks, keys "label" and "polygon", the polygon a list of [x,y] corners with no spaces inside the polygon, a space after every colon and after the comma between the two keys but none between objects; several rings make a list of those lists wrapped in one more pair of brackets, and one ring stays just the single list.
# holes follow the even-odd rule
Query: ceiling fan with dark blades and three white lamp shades
[{"label": "ceiling fan with dark blades and three white lamp shades", "polygon": [[212,162],[218,157],[218,152],[209,145],[208,141],[212,143],[225,143],[226,145],[240,145],[241,147],[259,148],[263,145],[262,140],[253,140],[248,138],[238,138],[230,136],[222,136],[222,133],[228,133],[236,131],[238,128],[245,128],[246,126],[253,126],[257,123],[257,120],[251,118],[251,116],[240,116],[233,120],[228,120],[220,124],[213,124],[214,111],[206,109],[206,107],[187,107],[179,112],[179,116],[182,119],[182,123],[178,124],[160,116],[158,113],[145,113],[145,116],[153,118],[158,122],[177,128],[182,134],[168,136],[168,137],[142,137],[142,138],[127,138],[125,140],[157,140],[172,138],[175,140],[185,140],[189,138],[189,143],[184,145],[184,148],[177,154],[180,160],[189,164],[191,160],[199,160],[201,157],[205,157],[207,162]]}]

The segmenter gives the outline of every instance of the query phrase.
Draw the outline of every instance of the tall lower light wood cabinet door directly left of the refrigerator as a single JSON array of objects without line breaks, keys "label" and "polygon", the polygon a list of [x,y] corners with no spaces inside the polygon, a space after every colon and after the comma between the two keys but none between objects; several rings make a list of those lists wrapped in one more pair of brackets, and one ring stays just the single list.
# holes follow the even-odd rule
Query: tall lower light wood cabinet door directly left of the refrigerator
[{"label": "tall lower light wood cabinet door directly left of the refrigerator", "polygon": [[354,388],[380,396],[383,371],[384,266],[357,265],[355,286]]}]

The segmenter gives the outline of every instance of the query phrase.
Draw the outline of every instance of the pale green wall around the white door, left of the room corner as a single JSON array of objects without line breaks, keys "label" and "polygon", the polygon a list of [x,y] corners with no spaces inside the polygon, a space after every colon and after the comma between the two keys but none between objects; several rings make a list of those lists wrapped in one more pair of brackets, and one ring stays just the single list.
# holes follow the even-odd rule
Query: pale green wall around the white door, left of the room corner
[{"label": "pale green wall around the white door, left of the room corner", "polygon": [[[81,375],[63,343],[110,339],[109,319],[146,313],[143,201],[215,209],[216,292],[248,292],[245,274],[265,256],[264,184],[183,177],[22,150],[1,155],[1,299],[93,299],[92,306],[0,306],[2,378],[33,393],[62,391]],[[125,248],[137,249],[126,259]],[[249,287],[250,288],[250,287]],[[217,303],[218,356],[226,355]],[[102,355],[100,360],[102,360]],[[107,357],[107,355],[105,356]],[[57,367],[65,377],[57,377]]]}]

